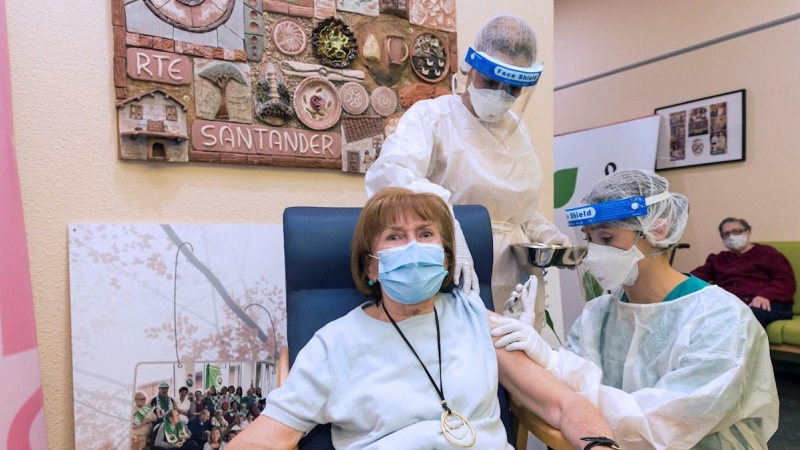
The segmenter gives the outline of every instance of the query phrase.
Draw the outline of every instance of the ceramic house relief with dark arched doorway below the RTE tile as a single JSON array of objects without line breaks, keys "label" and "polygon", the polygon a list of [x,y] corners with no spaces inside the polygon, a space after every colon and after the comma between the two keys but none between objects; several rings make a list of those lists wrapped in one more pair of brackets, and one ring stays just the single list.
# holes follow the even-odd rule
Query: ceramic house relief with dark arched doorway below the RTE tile
[{"label": "ceramic house relief with dark arched doorway below the RTE tile", "polygon": [[186,106],[156,89],[117,104],[120,159],[187,162]]}]

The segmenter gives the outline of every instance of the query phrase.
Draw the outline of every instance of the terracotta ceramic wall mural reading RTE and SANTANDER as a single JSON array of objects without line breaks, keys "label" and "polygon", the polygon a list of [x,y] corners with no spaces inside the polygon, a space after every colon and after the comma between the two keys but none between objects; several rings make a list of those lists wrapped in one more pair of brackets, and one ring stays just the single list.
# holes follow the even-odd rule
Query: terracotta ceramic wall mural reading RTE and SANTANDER
[{"label": "terracotta ceramic wall mural reading RTE and SANTANDER", "polygon": [[111,0],[118,157],[364,173],[450,92],[454,0]]}]

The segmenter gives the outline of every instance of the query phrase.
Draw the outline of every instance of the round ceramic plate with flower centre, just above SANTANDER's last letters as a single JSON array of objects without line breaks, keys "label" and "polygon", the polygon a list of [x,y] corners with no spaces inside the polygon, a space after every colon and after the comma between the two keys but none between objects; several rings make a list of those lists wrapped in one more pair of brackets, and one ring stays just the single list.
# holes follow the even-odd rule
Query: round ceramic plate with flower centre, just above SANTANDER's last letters
[{"label": "round ceramic plate with flower centre, just above SANTANDER's last letters", "polygon": [[297,118],[312,130],[325,130],[339,121],[342,104],[339,92],[322,77],[308,77],[294,91]]}]

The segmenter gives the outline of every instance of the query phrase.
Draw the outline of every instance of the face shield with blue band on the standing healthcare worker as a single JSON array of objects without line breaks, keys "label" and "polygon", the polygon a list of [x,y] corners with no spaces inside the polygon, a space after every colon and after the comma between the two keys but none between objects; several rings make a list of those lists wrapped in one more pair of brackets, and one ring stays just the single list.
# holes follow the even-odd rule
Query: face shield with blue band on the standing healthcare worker
[{"label": "face shield with blue band on the standing healthcare worker", "polygon": [[463,85],[478,119],[503,140],[516,132],[542,70],[541,64],[518,67],[470,47],[460,77],[453,78],[453,92]]}]

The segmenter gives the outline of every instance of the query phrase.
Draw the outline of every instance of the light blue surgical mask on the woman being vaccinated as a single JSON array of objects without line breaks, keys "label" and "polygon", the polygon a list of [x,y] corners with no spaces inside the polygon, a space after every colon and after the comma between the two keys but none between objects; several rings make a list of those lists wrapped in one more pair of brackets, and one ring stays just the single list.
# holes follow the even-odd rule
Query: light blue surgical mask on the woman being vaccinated
[{"label": "light blue surgical mask on the woman being vaccinated", "polygon": [[448,271],[441,244],[411,241],[378,252],[378,280],[394,301],[415,305],[439,292]]}]

